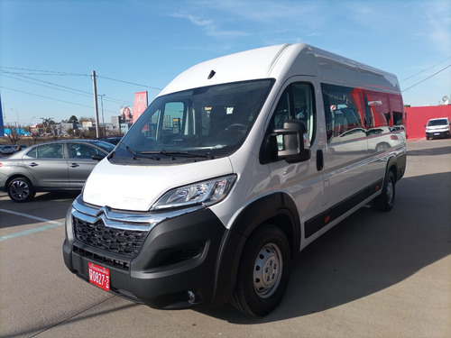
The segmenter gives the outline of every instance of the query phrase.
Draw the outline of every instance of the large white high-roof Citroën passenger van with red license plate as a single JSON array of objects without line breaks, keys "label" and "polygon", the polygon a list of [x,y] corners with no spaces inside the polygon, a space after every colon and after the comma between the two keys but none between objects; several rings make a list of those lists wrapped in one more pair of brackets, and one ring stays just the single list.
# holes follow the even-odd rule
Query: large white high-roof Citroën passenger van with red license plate
[{"label": "large white high-roof Citro\u00ebn passenger van with red license plate", "polygon": [[266,315],[294,254],[371,201],[391,210],[403,123],[394,75],[307,44],[200,63],[92,171],[65,263],[148,306]]}]

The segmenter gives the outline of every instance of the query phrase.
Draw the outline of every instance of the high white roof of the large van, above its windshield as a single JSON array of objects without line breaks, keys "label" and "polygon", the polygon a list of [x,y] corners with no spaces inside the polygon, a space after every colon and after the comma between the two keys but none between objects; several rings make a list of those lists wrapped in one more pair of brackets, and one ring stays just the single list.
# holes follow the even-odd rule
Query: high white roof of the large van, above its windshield
[{"label": "high white roof of the large van, above its windshield", "polygon": [[275,78],[283,82],[295,75],[316,76],[329,83],[400,91],[398,79],[391,73],[306,43],[297,43],[245,50],[199,63],[174,78],[159,96],[257,78]]}]

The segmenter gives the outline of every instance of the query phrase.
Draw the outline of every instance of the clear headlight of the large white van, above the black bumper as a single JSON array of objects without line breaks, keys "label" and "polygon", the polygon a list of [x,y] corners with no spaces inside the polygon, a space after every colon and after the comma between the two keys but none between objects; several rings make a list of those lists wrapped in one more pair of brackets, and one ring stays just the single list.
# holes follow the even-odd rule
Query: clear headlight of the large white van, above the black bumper
[{"label": "clear headlight of the large white van, above the black bumper", "polygon": [[224,199],[234,186],[236,175],[209,179],[171,189],[151,207],[161,210],[194,205],[211,206]]}]

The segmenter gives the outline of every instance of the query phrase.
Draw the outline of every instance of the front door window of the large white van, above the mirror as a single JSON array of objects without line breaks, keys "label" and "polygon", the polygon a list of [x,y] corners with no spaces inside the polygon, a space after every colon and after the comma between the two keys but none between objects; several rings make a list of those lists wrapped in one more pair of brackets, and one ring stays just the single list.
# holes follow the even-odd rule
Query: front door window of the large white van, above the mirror
[{"label": "front door window of the large white van, above the mirror", "polygon": [[310,142],[313,142],[315,116],[315,99],[312,86],[304,82],[295,82],[283,91],[272,115],[272,125],[274,129],[281,129],[285,120],[300,120],[306,123]]}]

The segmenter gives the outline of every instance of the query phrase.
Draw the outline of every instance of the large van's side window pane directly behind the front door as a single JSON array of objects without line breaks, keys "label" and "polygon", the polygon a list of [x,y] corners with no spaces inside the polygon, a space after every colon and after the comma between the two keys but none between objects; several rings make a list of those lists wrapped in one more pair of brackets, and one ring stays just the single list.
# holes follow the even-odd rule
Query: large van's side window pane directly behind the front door
[{"label": "large van's side window pane directly behind the front door", "polygon": [[[366,137],[364,123],[369,112],[362,112],[362,91],[351,87],[321,84],[326,114],[327,142],[344,142]],[[362,118],[364,116],[364,119]]]}]

